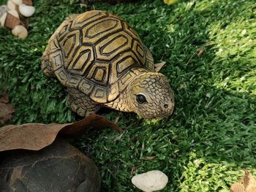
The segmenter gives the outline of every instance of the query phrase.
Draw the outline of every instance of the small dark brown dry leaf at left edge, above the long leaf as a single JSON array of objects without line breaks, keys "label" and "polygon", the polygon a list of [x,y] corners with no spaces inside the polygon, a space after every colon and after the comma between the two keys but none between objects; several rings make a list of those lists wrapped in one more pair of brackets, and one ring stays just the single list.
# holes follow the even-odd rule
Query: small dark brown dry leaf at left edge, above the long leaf
[{"label": "small dark brown dry leaf at left edge, above the long leaf", "polygon": [[0,98],[0,125],[6,123],[12,118],[12,113],[15,112],[14,108],[9,103],[9,97],[6,92]]}]

